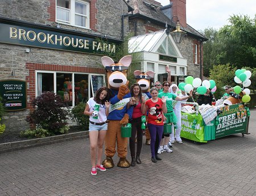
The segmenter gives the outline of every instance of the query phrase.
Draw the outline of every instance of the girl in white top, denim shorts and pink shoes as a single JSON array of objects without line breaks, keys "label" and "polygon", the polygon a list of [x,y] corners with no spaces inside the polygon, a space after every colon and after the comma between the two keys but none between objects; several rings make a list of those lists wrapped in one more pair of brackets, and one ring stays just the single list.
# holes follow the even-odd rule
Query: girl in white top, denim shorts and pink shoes
[{"label": "girl in white top, denim shorts and pink shoes", "polygon": [[[92,175],[97,174],[97,169],[106,171],[101,165],[102,147],[106,136],[108,124],[106,122],[109,115],[109,90],[107,87],[101,87],[95,97],[92,97],[86,103],[84,114],[90,116],[89,138],[90,138],[90,161],[92,163]],[[97,111],[97,112],[96,112]],[[98,114],[97,114],[98,113]],[[96,154],[97,164],[96,164]]]}]

